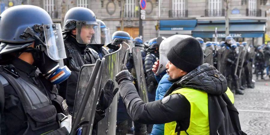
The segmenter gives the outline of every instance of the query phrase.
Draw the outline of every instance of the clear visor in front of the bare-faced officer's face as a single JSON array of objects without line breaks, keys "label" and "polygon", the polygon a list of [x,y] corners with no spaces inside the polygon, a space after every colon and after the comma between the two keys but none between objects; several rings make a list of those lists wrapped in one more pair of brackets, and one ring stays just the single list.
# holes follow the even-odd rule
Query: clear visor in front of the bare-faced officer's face
[{"label": "clear visor in front of the bare-faced officer's face", "polygon": [[101,44],[100,22],[77,21],[76,40],[80,44]]}]

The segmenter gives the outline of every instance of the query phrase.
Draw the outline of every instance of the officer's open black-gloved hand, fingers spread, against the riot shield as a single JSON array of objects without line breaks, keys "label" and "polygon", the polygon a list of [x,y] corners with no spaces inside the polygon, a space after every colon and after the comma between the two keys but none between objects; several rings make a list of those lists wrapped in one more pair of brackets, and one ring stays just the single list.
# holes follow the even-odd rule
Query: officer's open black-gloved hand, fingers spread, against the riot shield
[{"label": "officer's open black-gloved hand, fingers spread, against the riot shield", "polygon": [[108,79],[104,85],[104,87],[100,91],[100,95],[98,98],[98,104],[97,104],[97,109],[98,110],[106,110],[110,104],[113,102],[113,97],[116,95],[117,91],[119,88],[114,88],[114,82],[112,79]]}]

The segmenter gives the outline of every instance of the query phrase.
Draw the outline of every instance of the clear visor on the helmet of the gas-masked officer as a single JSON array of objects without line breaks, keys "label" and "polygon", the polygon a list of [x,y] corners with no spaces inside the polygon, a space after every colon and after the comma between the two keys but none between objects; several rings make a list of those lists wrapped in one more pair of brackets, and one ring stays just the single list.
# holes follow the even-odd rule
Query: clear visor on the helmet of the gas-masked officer
[{"label": "clear visor on the helmet of the gas-masked officer", "polygon": [[59,60],[67,58],[61,24],[46,24],[44,27],[45,44],[49,58]]}]

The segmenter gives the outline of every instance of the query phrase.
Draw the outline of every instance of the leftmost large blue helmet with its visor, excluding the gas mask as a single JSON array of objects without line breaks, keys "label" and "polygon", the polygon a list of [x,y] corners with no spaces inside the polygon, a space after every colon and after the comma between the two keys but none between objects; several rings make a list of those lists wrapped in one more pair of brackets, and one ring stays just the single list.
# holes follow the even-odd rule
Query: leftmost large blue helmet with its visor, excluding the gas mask
[{"label": "leftmost large blue helmet with its visor, excluding the gas mask", "polygon": [[18,5],[2,12],[0,18],[0,55],[25,49],[35,41],[34,47],[51,59],[66,58],[61,25],[53,24],[44,9]]}]

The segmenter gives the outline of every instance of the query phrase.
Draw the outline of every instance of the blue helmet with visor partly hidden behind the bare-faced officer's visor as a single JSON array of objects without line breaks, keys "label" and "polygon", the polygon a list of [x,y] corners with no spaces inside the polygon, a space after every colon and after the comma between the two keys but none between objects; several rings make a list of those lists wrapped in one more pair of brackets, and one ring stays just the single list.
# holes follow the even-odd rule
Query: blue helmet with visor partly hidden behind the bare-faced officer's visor
[{"label": "blue helmet with visor partly hidden behind the bare-faced officer's visor", "polygon": [[101,45],[111,43],[110,28],[106,27],[105,23],[99,19],[97,19],[97,22],[100,22],[100,31],[101,31],[100,42],[101,42]]}]

